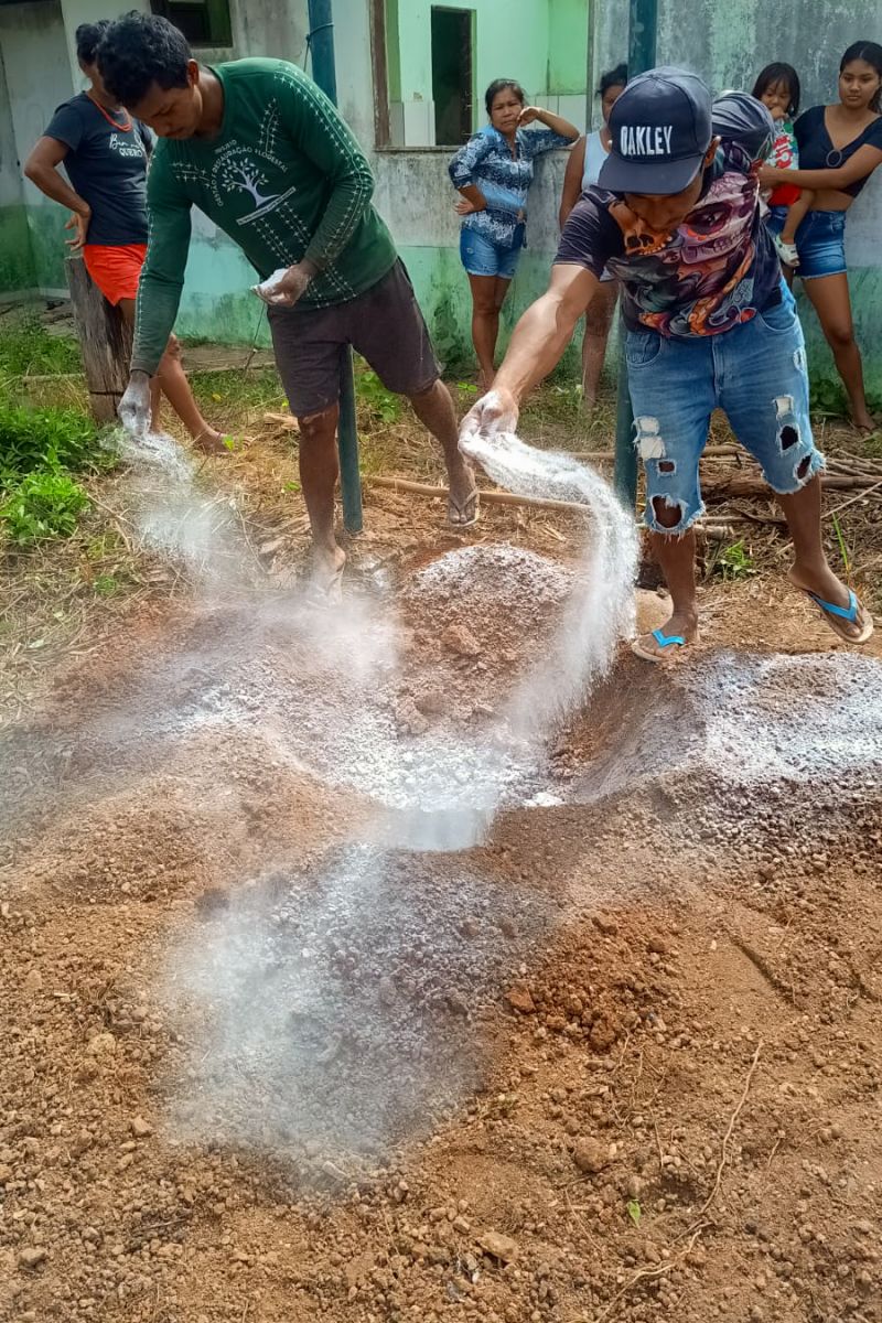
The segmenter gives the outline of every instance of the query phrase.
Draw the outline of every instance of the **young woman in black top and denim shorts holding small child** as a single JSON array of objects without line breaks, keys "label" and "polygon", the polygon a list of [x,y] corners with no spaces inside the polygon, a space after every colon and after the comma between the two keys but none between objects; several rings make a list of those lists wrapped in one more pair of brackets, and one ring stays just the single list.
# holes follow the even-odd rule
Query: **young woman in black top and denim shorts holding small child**
[{"label": "young woman in black top and denim shorts holding small child", "polygon": [[858,41],[840,64],[840,101],[815,106],[796,120],[799,169],[763,167],[763,187],[795,184],[815,191],[796,234],[799,275],[815,306],[861,431],[874,423],[863,394],[861,351],[854,340],[845,266],[845,213],[882,164],[882,46]]}]

